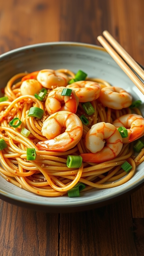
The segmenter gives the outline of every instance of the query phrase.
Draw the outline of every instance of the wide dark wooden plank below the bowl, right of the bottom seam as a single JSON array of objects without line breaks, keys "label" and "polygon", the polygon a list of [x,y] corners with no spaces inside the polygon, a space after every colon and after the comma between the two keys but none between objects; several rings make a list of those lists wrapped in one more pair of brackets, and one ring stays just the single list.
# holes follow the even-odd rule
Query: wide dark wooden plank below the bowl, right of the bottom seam
[{"label": "wide dark wooden plank below the bowl, right of the bottom seam", "polygon": [[136,256],[129,198],[96,210],[61,214],[59,243],[63,256]]}]

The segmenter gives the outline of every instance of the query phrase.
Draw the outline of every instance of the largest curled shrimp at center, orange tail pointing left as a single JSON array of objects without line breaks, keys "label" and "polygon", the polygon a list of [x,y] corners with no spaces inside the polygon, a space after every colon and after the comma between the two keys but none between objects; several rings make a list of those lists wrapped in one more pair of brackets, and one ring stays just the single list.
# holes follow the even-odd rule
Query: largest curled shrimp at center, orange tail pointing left
[{"label": "largest curled shrimp at center, orange tail pointing left", "polygon": [[[65,132],[61,133],[62,129]],[[69,111],[59,111],[50,115],[43,123],[42,134],[48,140],[36,144],[38,150],[67,151],[80,141],[83,124],[79,117]]]}]

